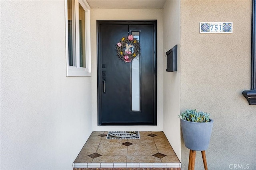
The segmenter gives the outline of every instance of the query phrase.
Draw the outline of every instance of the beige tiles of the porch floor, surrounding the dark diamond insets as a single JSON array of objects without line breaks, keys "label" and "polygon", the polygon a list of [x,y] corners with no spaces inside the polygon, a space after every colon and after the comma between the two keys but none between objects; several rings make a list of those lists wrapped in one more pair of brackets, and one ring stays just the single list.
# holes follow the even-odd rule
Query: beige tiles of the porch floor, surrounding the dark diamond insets
[{"label": "beige tiles of the porch floor, surrounding the dark diamond insets", "polygon": [[[75,163],[180,163],[163,132],[142,131],[141,139],[106,139],[98,136],[103,133],[108,132],[92,132]],[[147,136],[151,133],[157,136]],[[133,145],[122,145],[127,141]],[[88,156],[95,152],[102,156],[94,159]],[[158,152],[167,156],[162,159],[152,156]]]}]

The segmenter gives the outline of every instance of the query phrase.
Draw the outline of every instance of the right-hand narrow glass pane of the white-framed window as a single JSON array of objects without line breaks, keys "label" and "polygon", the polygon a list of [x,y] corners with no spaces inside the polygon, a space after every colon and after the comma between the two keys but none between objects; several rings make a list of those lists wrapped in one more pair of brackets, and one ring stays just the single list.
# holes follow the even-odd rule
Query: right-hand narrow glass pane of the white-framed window
[{"label": "right-hand narrow glass pane of the white-framed window", "polygon": [[85,63],[85,11],[79,4],[79,43],[80,43],[80,67],[86,67]]}]

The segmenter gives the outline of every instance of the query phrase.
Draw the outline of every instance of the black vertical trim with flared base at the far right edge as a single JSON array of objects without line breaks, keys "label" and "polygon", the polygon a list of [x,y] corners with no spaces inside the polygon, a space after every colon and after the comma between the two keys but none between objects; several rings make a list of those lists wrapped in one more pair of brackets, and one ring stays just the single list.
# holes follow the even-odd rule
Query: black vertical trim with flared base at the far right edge
[{"label": "black vertical trim with flared base at the far right edge", "polygon": [[243,95],[249,105],[256,105],[256,4],[252,0],[252,61],[251,61],[251,90],[244,90]]}]

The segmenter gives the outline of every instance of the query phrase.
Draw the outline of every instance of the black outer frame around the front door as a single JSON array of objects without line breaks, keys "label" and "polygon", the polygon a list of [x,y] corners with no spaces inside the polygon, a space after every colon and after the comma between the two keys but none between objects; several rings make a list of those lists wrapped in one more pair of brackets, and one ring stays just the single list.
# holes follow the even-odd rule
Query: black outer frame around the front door
[{"label": "black outer frame around the front door", "polygon": [[[97,20],[97,93],[98,93],[98,125],[102,125],[101,122],[101,106],[102,106],[102,62],[101,62],[101,37],[100,37],[100,25],[102,24],[138,24],[138,25],[147,25],[152,24],[153,25],[153,125],[157,125],[157,103],[156,103],[156,34],[157,34],[157,21],[156,20]],[[114,48],[114,47],[113,47]],[[116,59],[118,59],[116,57]],[[116,125],[116,124],[108,124],[108,125]],[[132,123],[132,124],[126,124],[126,123],[118,123],[118,125],[143,125],[141,123]],[[151,124],[152,125],[152,124]]]}]

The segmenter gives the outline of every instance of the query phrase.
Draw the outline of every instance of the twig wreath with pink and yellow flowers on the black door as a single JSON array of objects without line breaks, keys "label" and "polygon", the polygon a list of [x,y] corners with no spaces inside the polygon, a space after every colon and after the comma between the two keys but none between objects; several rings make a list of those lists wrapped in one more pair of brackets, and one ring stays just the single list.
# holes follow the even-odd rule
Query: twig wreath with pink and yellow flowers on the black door
[{"label": "twig wreath with pink and yellow flowers on the black door", "polygon": [[128,35],[116,44],[116,51],[119,59],[129,63],[140,54],[140,43],[133,35]]}]

